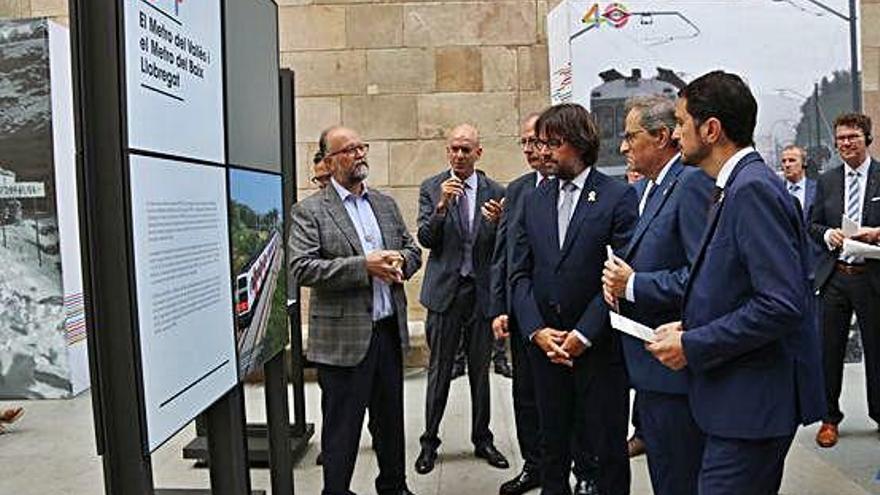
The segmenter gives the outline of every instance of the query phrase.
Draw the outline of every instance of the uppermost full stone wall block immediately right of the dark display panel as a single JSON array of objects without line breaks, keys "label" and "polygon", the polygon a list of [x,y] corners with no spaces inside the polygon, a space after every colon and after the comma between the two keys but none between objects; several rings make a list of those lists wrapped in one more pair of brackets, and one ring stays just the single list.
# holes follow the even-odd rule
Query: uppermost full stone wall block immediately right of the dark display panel
[{"label": "uppermost full stone wall block immediately right of the dark display panel", "polygon": [[282,52],[345,48],[345,7],[306,5],[278,9]]}]

